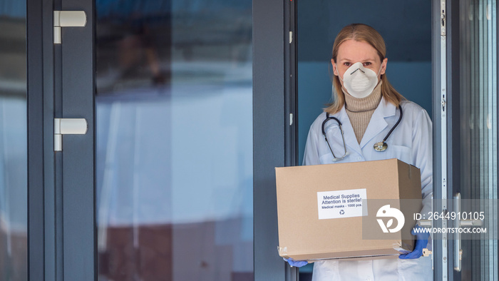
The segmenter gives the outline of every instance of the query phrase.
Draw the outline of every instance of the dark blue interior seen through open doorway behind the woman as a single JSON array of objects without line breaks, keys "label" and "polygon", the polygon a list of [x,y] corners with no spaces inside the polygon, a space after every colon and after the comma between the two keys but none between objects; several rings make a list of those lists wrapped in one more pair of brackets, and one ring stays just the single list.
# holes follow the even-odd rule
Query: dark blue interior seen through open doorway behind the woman
[{"label": "dark blue interior seen through open doorway behind the woman", "polygon": [[[336,34],[348,24],[379,31],[390,83],[432,116],[431,9],[428,1],[297,1],[299,165],[309,127],[332,102],[331,50]],[[312,269],[313,264],[300,268],[300,280],[311,280]]]}]

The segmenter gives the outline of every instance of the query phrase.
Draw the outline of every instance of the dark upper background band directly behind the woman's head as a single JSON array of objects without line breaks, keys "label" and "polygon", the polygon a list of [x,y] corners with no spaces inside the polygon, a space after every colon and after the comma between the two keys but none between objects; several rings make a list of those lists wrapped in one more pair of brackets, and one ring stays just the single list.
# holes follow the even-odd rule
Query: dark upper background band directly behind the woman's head
[{"label": "dark upper background band directly behind the woman's head", "polygon": [[369,24],[385,39],[390,61],[431,61],[431,1],[298,1],[298,60],[331,58],[343,26]]}]

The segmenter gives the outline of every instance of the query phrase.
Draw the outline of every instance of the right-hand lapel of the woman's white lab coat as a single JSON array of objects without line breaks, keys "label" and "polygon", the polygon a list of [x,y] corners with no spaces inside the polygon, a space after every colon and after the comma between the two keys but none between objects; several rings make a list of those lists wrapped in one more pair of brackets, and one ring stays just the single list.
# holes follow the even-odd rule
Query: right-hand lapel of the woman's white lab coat
[{"label": "right-hand lapel of the woman's white lab coat", "polygon": [[[393,103],[386,102],[382,97],[379,103],[379,106],[371,116],[371,120],[369,121],[369,125],[366,128],[366,132],[362,137],[360,148],[364,148],[364,146],[369,143],[374,137],[378,136],[381,131],[383,131],[388,123],[386,123],[385,118],[395,116],[396,107]],[[381,139],[379,141],[383,141]]]}]

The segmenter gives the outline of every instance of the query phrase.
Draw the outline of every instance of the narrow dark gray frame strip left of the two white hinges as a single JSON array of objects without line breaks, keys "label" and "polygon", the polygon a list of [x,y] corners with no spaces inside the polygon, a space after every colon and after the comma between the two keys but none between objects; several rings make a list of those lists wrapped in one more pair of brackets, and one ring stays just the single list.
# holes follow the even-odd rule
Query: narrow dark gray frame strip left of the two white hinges
[{"label": "narrow dark gray frame strip left of the two white hinges", "polygon": [[29,280],[56,280],[51,6],[26,1]]}]

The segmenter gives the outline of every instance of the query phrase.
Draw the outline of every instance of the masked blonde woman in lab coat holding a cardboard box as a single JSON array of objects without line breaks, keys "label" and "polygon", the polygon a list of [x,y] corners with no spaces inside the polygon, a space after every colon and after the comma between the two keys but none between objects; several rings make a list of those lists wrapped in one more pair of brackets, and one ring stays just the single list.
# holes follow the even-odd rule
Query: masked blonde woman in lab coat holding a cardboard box
[{"label": "masked blonde woman in lab coat holding a cardboard box", "polygon": [[[398,158],[421,169],[421,213],[427,213],[433,188],[431,120],[423,108],[405,101],[390,85],[385,56],[384,40],[371,26],[351,24],[336,36],[331,58],[334,103],[310,127],[304,165]],[[322,133],[326,116],[341,122],[344,142],[339,123],[332,119],[324,124],[326,141]],[[375,144],[382,151],[375,150]],[[421,257],[428,235],[416,239],[415,250],[399,259],[314,262],[313,280],[432,280],[431,258]]]}]

